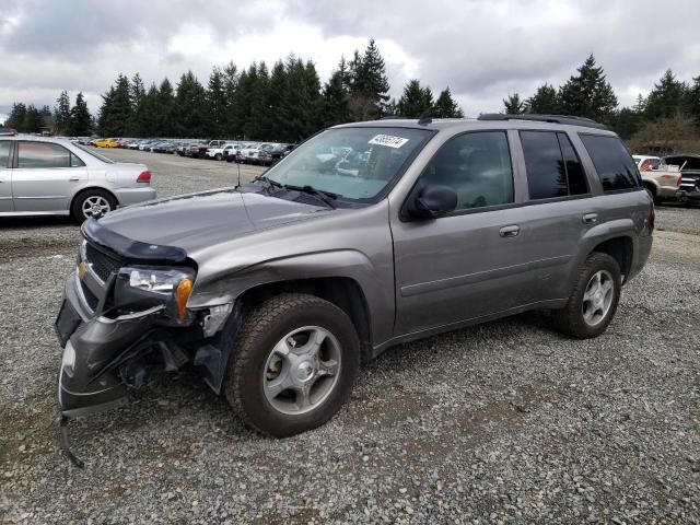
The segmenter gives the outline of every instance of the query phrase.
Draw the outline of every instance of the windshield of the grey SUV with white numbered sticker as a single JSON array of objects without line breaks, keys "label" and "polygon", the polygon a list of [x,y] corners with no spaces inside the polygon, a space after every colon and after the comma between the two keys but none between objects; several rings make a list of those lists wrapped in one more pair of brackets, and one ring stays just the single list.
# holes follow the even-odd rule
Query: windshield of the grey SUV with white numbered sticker
[{"label": "windshield of the grey SUV with white numbered sticker", "polygon": [[433,136],[412,128],[329,129],[291,152],[266,176],[290,186],[312,186],[343,200],[372,201]]}]

